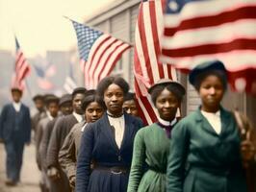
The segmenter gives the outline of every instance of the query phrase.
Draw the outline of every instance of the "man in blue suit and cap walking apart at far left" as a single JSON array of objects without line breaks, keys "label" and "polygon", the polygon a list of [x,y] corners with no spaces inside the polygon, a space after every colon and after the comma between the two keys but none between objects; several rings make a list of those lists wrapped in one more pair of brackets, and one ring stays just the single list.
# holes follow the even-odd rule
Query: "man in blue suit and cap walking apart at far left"
[{"label": "man in blue suit and cap walking apart at far left", "polygon": [[12,88],[13,103],[6,105],[1,114],[0,138],[7,154],[7,185],[15,185],[20,179],[25,144],[30,144],[30,110],[20,102],[22,90]]}]

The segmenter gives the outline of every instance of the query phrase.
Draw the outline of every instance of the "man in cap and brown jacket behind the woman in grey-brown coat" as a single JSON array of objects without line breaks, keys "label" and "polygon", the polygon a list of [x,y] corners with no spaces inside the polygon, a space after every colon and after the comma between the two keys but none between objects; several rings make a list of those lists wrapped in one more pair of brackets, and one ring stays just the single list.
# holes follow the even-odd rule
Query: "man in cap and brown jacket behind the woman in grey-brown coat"
[{"label": "man in cap and brown jacket behind the woman in grey-brown coat", "polygon": [[87,89],[84,87],[77,87],[73,90],[73,113],[59,118],[52,131],[50,143],[47,149],[46,162],[51,180],[55,180],[54,183],[58,183],[54,186],[54,191],[69,192],[71,190],[64,171],[60,166],[58,156],[61,147],[63,146],[65,136],[76,123],[84,120],[82,100],[85,98],[86,91]]}]

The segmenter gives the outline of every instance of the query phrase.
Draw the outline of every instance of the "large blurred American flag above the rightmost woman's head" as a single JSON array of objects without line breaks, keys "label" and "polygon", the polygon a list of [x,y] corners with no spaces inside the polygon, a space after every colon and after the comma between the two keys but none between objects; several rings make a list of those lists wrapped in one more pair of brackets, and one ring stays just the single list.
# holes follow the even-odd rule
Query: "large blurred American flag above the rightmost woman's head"
[{"label": "large blurred American flag above the rightmost woman's head", "polygon": [[256,0],[168,0],[161,42],[163,61],[221,60],[233,88],[256,94]]}]

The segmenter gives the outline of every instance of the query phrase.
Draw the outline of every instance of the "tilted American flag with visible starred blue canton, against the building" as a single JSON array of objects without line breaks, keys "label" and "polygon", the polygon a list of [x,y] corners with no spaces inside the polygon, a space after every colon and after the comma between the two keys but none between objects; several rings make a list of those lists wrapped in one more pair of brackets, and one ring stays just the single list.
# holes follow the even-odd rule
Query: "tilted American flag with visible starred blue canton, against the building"
[{"label": "tilted American flag with visible starred blue canton, against the building", "polygon": [[86,87],[95,88],[101,79],[111,73],[116,61],[131,45],[111,35],[71,21],[76,31],[80,64],[85,73]]}]

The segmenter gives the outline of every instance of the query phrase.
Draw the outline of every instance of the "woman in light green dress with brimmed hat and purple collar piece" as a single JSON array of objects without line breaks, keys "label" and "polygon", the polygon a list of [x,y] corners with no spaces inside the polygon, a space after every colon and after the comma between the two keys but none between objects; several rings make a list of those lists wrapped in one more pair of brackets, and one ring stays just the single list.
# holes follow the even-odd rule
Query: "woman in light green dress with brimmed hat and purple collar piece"
[{"label": "woman in light green dress with brimmed hat and purple collar piece", "polygon": [[166,191],[166,163],[169,137],[177,123],[176,112],[185,89],[181,84],[161,80],[148,90],[159,113],[159,121],[137,132],[128,183],[128,192]]}]

